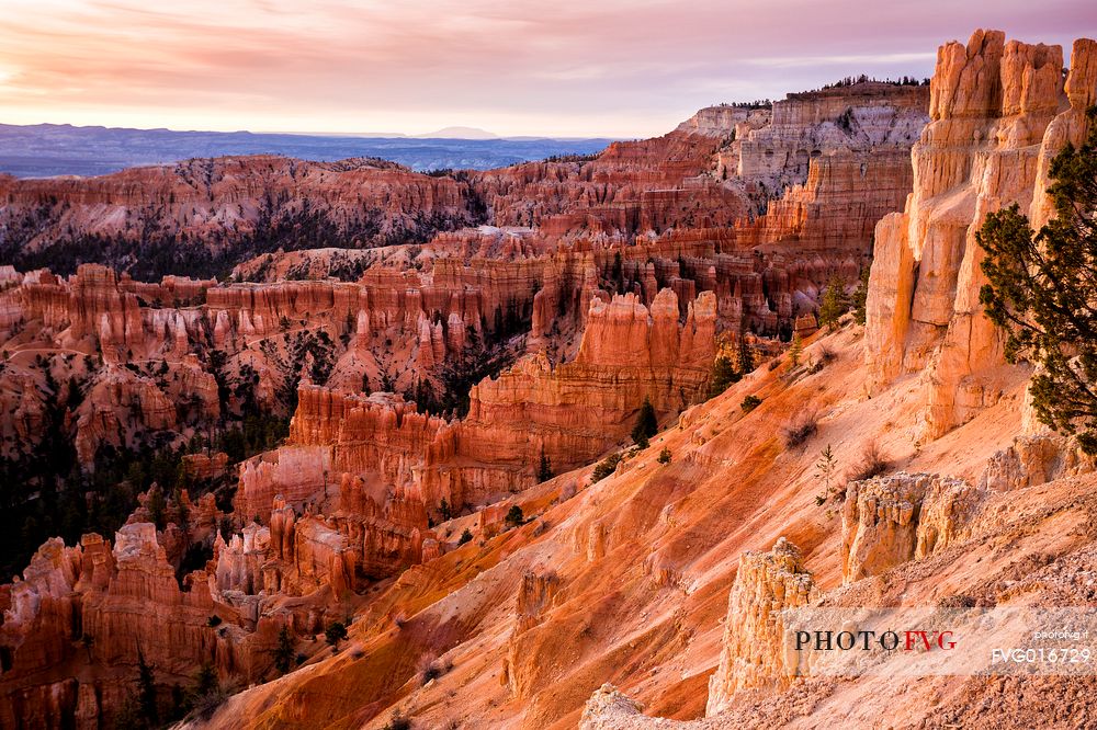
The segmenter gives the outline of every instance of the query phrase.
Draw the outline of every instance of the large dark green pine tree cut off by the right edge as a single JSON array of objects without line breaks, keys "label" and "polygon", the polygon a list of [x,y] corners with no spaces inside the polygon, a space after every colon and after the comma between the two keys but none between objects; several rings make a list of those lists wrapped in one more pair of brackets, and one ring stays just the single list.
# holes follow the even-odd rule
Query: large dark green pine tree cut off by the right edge
[{"label": "large dark green pine tree cut off by the right edge", "polygon": [[1085,144],[1051,163],[1055,218],[1033,233],[1015,204],[988,215],[976,241],[988,281],[980,301],[1008,331],[1007,360],[1042,365],[1029,386],[1037,417],[1097,454],[1097,107],[1087,116]]}]

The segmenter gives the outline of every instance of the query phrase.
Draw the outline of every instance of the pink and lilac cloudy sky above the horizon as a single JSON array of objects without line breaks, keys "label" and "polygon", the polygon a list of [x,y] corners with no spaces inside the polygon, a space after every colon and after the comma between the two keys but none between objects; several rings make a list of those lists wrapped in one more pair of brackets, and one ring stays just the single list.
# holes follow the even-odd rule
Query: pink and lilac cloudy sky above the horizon
[{"label": "pink and lilac cloudy sky above the horizon", "polygon": [[[1095,0],[0,0],[0,123],[648,137],[702,106],[932,73]],[[1068,64],[1068,60],[1067,60]]]}]

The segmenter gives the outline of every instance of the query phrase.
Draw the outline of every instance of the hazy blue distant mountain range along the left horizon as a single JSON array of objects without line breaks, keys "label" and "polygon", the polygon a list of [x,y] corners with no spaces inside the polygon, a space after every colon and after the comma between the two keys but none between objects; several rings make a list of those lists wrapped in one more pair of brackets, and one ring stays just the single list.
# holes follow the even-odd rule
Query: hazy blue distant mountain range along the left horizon
[{"label": "hazy blue distant mountain range along the left horizon", "polygon": [[374,137],[0,124],[0,173],[16,178],[87,176],[225,155],[285,155],[326,161],[380,157],[419,171],[487,170],[556,155],[590,155],[611,141],[506,138],[472,127],[446,127],[422,137]]}]

